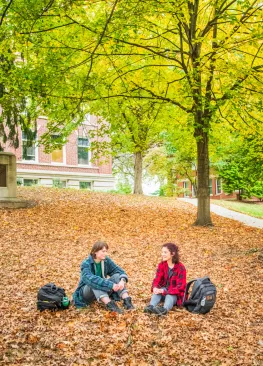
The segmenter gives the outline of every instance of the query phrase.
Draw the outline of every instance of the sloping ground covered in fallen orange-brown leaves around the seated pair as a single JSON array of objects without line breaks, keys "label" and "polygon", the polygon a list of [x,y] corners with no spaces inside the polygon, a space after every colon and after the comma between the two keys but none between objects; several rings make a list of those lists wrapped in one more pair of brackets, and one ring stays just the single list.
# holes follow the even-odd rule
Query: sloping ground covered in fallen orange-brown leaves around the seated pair
[{"label": "sloping ground covered in fallen orange-brown leaves around the seated pair", "polygon": [[[263,365],[262,230],[212,216],[191,226],[195,208],[176,199],[44,188],[20,189],[29,209],[0,210],[0,363],[4,365]],[[114,316],[98,304],[39,313],[39,287],[71,295],[97,240],[129,275],[137,310]],[[187,279],[209,275],[211,313],[143,313],[161,245],[180,247]]]}]

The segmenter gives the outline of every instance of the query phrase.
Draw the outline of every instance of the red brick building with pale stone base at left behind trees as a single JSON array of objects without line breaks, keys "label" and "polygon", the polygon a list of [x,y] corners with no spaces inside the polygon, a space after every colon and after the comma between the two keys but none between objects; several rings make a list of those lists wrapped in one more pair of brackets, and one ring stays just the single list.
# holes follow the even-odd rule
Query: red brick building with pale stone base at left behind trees
[{"label": "red brick building with pale stone base at left behind trees", "polygon": [[[42,185],[107,191],[114,188],[112,161],[91,162],[89,131],[97,127],[97,117],[87,116],[68,138],[62,149],[50,154],[38,145],[39,137],[47,131],[47,118],[37,120],[36,138],[31,143],[23,131],[19,132],[19,147],[6,147],[17,157],[18,185]],[[56,139],[58,135],[52,135]],[[104,159],[105,160],[105,159]]]}]

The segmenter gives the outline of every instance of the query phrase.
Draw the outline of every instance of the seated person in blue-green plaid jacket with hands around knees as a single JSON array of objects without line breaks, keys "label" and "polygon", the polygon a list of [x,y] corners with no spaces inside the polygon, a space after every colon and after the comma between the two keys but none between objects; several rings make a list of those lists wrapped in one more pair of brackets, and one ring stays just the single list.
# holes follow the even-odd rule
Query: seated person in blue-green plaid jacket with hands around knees
[{"label": "seated person in blue-green plaid jacket with hands around knees", "polygon": [[80,281],[73,294],[77,308],[82,308],[98,300],[106,305],[109,311],[122,314],[123,311],[112,299],[122,299],[126,310],[134,309],[131,297],[126,289],[128,276],[108,256],[108,244],[97,241],[90,255],[81,264]]}]

